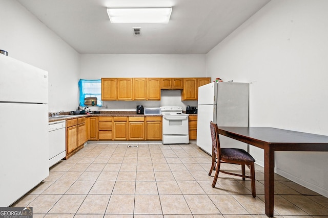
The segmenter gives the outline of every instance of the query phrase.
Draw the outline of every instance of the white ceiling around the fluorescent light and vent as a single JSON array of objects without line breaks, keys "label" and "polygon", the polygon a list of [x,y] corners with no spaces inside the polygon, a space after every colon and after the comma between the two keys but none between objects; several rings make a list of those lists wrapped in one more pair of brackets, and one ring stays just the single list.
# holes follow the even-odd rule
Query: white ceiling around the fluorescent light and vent
[{"label": "white ceiling around the fluorescent light and vent", "polygon": [[[17,1],[80,54],[206,54],[270,0]],[[108,7],[172,7],[172,14],[168,24],[111,23]]]}]

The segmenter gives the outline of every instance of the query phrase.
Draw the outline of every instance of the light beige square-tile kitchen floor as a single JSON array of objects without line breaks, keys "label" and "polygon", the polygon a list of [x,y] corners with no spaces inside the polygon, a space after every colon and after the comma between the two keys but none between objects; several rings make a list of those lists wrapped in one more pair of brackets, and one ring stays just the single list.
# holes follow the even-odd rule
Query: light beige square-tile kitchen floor
[{"label": "light beige square-tile kitchen floor", "polygon": [[[88,143],[12,206],[33,207],[34,218],[267,217],[262,167],[252,198],[250,180],[240,177],[220,174],[212,188],[210,166],[196,144]],[[275,217],[324,218],[328,199],[275,175],[274,209]]]}]

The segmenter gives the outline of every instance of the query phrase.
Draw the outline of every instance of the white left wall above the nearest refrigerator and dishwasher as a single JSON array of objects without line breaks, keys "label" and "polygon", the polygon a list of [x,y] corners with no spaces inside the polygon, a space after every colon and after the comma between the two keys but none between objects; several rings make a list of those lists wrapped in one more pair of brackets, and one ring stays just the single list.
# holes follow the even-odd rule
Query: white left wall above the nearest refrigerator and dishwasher
[{"label": "white left wall above the nearest refrigerator and dishwasher", "polygon": [[49,72],[49,111],[74,110],[79,54],[18,2],[0,0],[0,5],[0,50]]}]

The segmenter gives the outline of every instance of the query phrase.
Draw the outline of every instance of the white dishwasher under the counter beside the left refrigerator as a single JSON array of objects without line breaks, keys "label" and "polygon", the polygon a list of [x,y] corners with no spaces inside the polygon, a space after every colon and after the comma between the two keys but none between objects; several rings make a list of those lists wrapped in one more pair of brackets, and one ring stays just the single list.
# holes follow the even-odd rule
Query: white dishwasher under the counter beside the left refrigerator
[{"label": "white dishwasher under the counter beside the left refrigerator", "polygon": [[49,123],[49,167],[66,156],[66,121]]}]

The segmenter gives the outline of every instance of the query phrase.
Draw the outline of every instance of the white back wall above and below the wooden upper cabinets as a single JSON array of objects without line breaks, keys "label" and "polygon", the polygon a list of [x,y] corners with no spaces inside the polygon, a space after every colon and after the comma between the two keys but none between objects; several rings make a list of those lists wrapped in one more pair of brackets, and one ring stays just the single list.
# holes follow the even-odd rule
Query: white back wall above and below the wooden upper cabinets
[{"label": "white back wall above and below the wooden upper cabinets", "polygon": [[[206,77],[206,55],[95,55],[81,54],[81,79],[106,77]],[[181,102],[180,90],[162,90],[161,101],[107,101],[103,110],[135,110],[145,107],[197,106],[197,101]],[[107,108],[106,108],[107,107]]]}]

